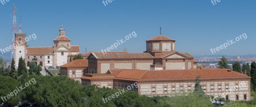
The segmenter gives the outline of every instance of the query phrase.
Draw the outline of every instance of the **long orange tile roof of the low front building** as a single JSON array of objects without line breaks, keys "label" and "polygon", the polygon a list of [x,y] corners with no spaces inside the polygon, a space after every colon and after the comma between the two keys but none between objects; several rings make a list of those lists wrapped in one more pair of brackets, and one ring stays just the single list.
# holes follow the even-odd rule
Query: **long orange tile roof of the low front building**
[{"label": "long orange tile roof of the low front building", "polygon": [[[131,70],[112,69],[115,79],[131,81],[180,81],[195,80],[200,75],[200,80],[212,79],[250,79],[251,77],[228,72],[227,69],[185,69],[185,70]],[[119,72],[119,73],[118,73]]]}]

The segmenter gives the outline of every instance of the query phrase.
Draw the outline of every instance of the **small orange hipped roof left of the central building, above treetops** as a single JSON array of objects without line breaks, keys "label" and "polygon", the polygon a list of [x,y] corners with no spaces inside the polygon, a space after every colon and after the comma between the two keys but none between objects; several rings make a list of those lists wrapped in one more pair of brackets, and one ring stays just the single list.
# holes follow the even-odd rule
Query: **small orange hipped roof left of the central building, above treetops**
[{"label": "small orange hipped roof left of the central building, above treetops", "polygon": [[60,67],[88,67],[88,60],[75,60],[61,65]]}]

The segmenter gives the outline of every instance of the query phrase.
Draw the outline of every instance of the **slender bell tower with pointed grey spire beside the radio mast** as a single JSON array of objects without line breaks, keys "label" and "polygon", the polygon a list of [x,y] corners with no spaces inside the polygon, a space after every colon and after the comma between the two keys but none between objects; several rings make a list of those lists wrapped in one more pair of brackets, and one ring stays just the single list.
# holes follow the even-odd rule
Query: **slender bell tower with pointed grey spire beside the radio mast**
[{"label": "slender bell tower with pointed grey spire beside the radio mast", "polygon": [[21,21],[20,21],[20,30],[15,33],[15,42],[14,42],[14,50],[15,50],[15,67],[18,68],[19,58],[26,57],[26,49],[27,49],[27,41],[26,41],[26,33],[21,30]]}]

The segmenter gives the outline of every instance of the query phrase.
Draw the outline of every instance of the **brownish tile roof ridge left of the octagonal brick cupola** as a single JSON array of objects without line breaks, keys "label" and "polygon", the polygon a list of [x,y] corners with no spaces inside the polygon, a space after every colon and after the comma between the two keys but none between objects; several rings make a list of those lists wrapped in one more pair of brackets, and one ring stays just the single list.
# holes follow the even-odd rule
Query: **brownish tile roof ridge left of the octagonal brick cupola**
[{"label": "brownish tile roof ridge left of the octagonal brick cupola", "polygon": [[150,53],[128,53],[128,52],[92,52],[99,59],[154,59]]}]

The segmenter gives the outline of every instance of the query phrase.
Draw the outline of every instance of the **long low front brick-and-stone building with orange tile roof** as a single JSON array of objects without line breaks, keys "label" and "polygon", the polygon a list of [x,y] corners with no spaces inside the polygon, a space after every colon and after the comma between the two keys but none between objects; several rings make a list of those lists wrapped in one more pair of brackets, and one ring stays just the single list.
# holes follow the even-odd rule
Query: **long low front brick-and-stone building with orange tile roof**
[{"label": "long low front brick-and-stone building with orange tile roof", "polygon": [[[227,69],[184,69],[184,70],[131,70],[111,69],[106,74],[85,74],[82,85],[95,84],[98,87],[129,89],[146,96],[174,96],[188,93],[195,87],[200,75],[202,89],[206,95],[219,97],[226,90],[226,100],[251,100],[251,77]],[[134,83],[138,83],[138,87]]]}]

